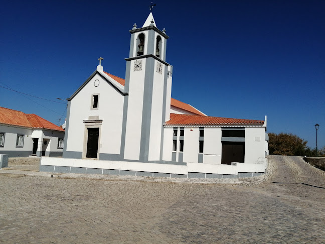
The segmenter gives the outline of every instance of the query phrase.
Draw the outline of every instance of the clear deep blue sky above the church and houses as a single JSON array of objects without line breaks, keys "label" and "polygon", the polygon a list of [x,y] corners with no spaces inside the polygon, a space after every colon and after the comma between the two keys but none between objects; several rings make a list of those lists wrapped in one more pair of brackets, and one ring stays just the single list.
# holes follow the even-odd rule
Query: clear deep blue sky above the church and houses
[{"label": "clear deep blue sky above the church and houses", "polygon": [[[318,147],[325,145],[325,1],[154,3],[156,25],[170,36],[174,98],[210,116],[267,115],[268,132],[293,133],[312,148],[318,123]],[[0,86],[67,98],[100,56],[105,71],[125,78],[128,31],[143,25],[149,4],[2,1]],[[3,87],[0,92],[0,106],[55,124],[65,110],[65,104],[29,97],[39,105]]]}]

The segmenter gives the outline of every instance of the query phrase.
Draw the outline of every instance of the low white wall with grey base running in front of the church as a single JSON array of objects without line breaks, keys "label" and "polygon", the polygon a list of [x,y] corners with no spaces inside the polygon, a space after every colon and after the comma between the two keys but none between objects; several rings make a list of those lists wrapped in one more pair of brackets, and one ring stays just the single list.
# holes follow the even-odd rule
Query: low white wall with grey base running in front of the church
[{"label": "low white wall with grey base running in front of the church", "polygon": [[53,173],[132,175],[171,178],[242,178],[264,174],[266,162],[233,165],[187,163],[187,165],[42,158],[40,171]]}]

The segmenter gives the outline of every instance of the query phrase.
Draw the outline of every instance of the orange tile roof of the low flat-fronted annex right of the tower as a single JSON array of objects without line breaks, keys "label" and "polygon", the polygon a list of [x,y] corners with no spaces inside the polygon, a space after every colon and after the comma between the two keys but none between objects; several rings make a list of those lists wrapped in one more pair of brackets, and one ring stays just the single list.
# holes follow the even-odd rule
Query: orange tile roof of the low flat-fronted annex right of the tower
[{"label": "orange tile roof of the low flat-fronted annex right of the tower", "polygon": [[165,125],[263,125],[264,120],[221,118],[171,113]]}]

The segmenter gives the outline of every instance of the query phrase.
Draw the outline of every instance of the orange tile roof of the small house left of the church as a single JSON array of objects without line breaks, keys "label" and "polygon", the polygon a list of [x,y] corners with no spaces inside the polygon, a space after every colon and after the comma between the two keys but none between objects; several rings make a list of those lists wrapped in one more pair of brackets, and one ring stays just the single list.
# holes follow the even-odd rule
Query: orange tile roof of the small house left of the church
[{"label": "orange tile roof of the small house left of the church", "polygon": [[64,132],[62,128],[36,114],[27,114],[6,107],[0,107],[0,124]]}]

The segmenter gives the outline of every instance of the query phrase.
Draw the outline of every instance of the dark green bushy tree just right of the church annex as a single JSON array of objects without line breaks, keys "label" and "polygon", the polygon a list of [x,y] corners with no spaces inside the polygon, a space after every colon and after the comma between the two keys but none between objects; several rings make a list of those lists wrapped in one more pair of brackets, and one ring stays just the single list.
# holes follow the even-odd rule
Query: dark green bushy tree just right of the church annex
[{"label": "dark green bushy tree just right of the church annex", "polygon": [[[269,133],[268,149],[274,155],[304,156],[307,150],[307,141],[293,134]],[[309,149],[310,151],[310,149]]]}]

